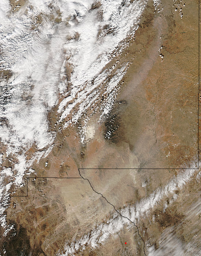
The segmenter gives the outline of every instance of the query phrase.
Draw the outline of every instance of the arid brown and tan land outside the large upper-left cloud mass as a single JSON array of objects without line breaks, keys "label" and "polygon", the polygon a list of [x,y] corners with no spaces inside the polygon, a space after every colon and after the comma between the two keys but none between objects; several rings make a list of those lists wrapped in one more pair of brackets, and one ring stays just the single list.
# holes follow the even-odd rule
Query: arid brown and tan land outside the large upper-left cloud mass
[{"label": "arid brown and tan land outside the large upper-left cloud mass", "polygon": [[1,237],[1,255],[200,255],[199,6],[153,3],[107,64],[129,67],[109,115],[90,115],[86,142],[81,120],[63,128],[58,105],[49,111],[52,151],[10,199],[15,231]]}]

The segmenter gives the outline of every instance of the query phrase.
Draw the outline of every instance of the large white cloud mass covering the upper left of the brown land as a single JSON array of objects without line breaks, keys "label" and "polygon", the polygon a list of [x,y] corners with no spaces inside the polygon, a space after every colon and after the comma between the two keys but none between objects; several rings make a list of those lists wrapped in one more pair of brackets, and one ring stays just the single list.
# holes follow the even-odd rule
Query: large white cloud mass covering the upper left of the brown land
[{"label": "large white cloud mass covering the upper left of the brown land", "polygon": [[[15,12],[10,1],[1,1],[0,71],[11,74],[0,83],[0,138],[6,152],[1,158],[17,162],[14,168],[4,167],[4,178],[12,181],[4,186],[1,178],[1,195],[9,194],[13,182],[22,185],[24,174],[33,172],[34,160],[52,150],[55,133],[49,130],[47,114],[54,106],[60,129],[81,120],[81,143],[86,142],[87,111],[99,111],[101,117],[110,112],[129,63],[115,72],[117,64],[106,65],[128,45],[145,4],[32,0]],[[27,161],[25,152],[32,146],[40,151]]]}]

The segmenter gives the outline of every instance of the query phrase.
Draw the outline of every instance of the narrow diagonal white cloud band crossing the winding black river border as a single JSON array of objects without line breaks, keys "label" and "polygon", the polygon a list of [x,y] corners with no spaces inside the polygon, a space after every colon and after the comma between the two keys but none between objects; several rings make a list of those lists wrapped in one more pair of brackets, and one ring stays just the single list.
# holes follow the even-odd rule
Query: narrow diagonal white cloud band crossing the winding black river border
[{"label": "narrow diagonal white cloud band crossing the winding black river border", "polygon": [[[181,189],[190,181],[196,171],[196,169],[183,170],[183,172],[172,178],[164,188],[158,188],[149,197],[142,199],[139,203],[120,210],[121,215],[140,226],[140,216],[148,215],[153,207],[170,195],[172,195],[171,202],[174,202],[177,199],[177,196],[174,197],[175,191]],[[97,192],[101,193],[101,191]],[[109,219],[106,223],[101,223],[90,234],[85,234],[79,241],[72,241],[71,244],[67,243],[65,252],[59,252],[58,255],[73,255],[78,249],[84,250],[86,246],[90,246],[92,249],[96,248],[99,244],[104,243],[111,234],[117,234],[125,225],[128,225],[128,228],[130,228],[132,223],[128,219],[122,218],[115,212],[113,218]]]}]

